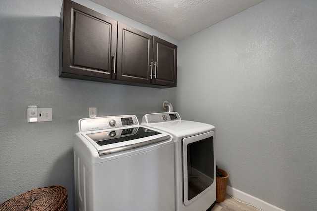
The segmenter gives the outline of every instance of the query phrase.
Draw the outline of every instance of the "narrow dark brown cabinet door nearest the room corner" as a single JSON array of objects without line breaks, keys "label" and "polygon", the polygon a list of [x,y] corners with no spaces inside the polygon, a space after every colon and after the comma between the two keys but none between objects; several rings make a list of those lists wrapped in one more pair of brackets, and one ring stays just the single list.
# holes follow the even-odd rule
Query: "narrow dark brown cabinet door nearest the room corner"
[{"label": "narrow dark brown cabinet door nearest the room corner", "polygon": [[176,87],[177,46],[153,36],[153,64],[152,84]]}]

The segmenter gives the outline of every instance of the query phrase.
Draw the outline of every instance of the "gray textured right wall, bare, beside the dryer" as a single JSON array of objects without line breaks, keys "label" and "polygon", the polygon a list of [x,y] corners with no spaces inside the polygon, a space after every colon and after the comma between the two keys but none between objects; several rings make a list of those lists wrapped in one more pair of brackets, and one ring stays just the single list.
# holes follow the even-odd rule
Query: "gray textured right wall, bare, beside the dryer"
[{"label": "gray textured right wall, bare, beside the dryer", "polygon": [[182,117],[216,126],[230,186],[287,211],[317,210],[316,11],[265,0],[179,48]]}]

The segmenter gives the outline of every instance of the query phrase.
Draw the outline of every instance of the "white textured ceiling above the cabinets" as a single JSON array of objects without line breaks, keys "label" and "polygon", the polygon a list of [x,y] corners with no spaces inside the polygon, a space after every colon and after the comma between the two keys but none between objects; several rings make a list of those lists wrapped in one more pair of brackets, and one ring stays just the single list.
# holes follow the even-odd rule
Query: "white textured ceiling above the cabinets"
[{"label": "white textured ceiling above the cabinets", "polygon": [[91,0],[178,40],[264,0]]}]

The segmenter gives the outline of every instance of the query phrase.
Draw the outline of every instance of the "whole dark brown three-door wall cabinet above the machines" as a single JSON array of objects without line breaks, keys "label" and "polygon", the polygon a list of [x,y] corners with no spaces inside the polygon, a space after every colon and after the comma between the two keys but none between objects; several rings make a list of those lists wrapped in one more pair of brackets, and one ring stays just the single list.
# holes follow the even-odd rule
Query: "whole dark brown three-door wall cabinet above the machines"
[{"label": "whole dark brown three-door wall cabinet above the machines", "polygon": [[176,45],[70,0],[60,17],[60,77],[176,87]]}]

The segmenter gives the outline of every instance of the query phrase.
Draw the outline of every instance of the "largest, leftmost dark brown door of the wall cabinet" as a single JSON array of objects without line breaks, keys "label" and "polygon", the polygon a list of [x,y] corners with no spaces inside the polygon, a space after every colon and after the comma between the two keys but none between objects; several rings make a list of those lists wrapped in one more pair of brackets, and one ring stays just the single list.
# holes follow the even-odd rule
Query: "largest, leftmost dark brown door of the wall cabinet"
[{"label": "largest, leftmost dark brown door of the wall cabinet", "polygon": [[61,11],[61,77],[115,79],[117,21],[70,0]]}]

